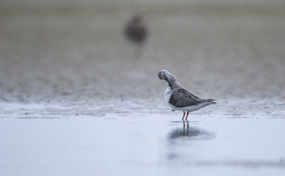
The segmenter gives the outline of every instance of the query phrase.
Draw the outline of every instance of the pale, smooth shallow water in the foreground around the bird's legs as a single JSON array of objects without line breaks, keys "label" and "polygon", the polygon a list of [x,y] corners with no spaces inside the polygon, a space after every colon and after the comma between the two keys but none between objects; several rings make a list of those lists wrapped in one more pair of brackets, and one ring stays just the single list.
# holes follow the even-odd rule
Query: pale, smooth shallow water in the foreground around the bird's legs
[{"label": "pale, smooth shallow water in the foreground around the bird's legs", "polygon": [[284,174],[284,119],[193,114],[189,122],[173,121],[180,115],[108,113],[58,118],[19,114],[2,118],[1,172]]}]

